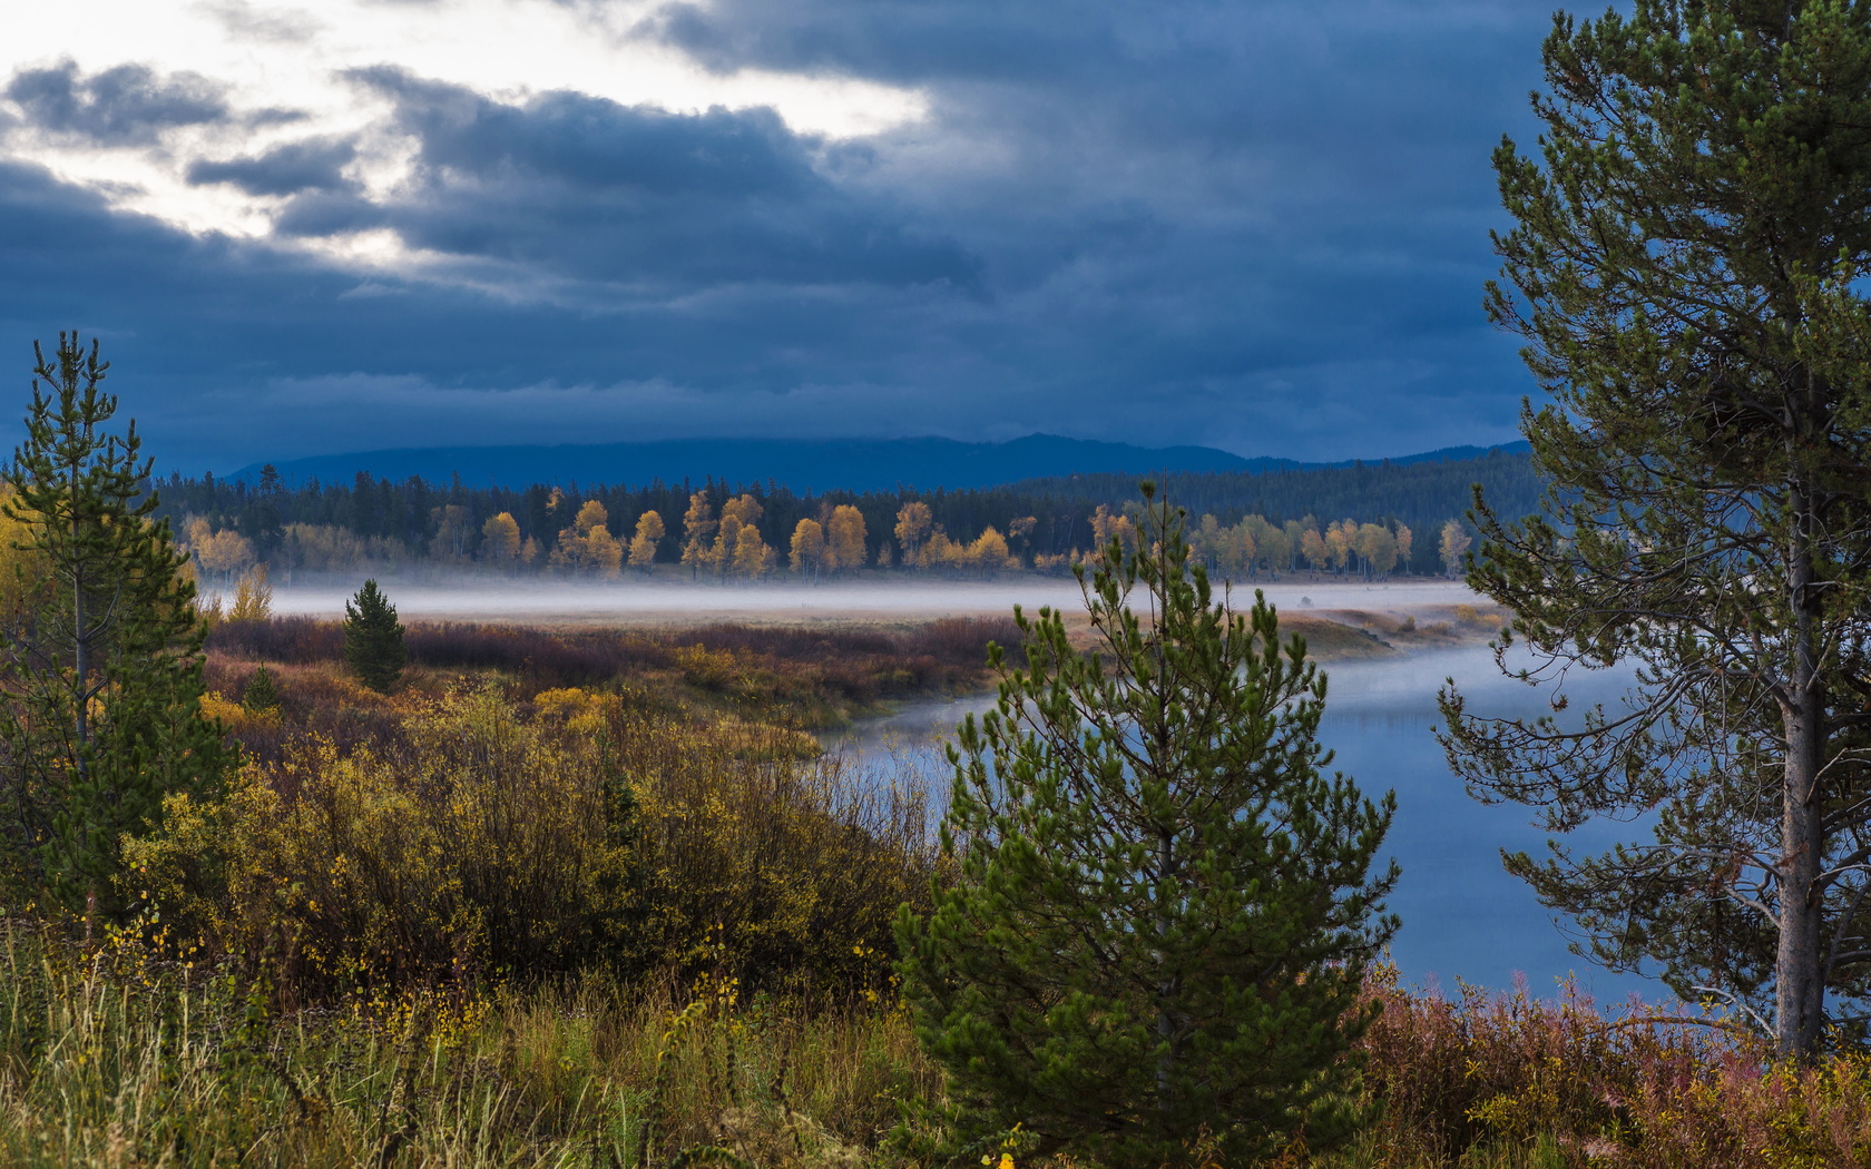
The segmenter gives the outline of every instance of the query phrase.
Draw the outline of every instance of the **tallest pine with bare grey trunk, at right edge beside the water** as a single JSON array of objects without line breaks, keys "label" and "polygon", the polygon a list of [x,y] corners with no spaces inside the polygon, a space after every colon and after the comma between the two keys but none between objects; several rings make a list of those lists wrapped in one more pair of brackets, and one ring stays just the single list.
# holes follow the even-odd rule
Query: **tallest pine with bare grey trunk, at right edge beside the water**
[{"label": "tallest pine with bare grey trunk, at right edge beside the water", "polygon": [[1598,960],[1809,1055],[1871,1017],[1871,6],[1635,0],[1544,56],[1487,305],[1549,494],[1484,501],[1469,582],[1516,670],[1635,685],[1566,726],[1452,692],[1450,756],[1559,838],[1641,819],[1508,866]]}]

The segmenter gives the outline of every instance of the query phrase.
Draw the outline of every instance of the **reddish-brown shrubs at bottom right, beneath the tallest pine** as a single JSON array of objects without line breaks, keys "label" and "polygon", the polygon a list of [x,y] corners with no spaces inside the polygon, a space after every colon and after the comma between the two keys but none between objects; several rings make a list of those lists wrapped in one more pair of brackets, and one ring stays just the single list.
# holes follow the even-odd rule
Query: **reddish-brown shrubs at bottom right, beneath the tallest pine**
[{"label": "reddish-brown shrubs at bottom right, beneath the tallest pine", "polygon": [[1467,1163],[1478,1147],[1545,1139],[1581,1169],[1871,1163],[1871,1057],[1776,1062],[1727,1017],[1680,1004],[1607,1016],[1570,989],[1538,1001],[1463,986],[1448,1001],[1383,971],[1370,995],[1383,1004],[1362,1044],[1385,1102],[1379,1163]]}]

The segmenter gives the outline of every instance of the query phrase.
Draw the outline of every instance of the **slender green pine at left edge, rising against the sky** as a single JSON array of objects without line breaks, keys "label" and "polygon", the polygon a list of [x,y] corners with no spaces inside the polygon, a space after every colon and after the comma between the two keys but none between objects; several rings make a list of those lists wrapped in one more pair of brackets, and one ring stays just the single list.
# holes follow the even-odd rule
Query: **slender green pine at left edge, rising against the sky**
[{"label": "slender green pine at left edge, rising against the sky", "polygon": [[122,838],[161,827],[167,795],[210,791],[226,750],[200,713],[206,630],[185,557],[152,520],[137,425],[107,430],[110,367],[77,333],[34,357],[4,507],[45,578],[0,643],[7,829],[17,877],[112,915]]}]

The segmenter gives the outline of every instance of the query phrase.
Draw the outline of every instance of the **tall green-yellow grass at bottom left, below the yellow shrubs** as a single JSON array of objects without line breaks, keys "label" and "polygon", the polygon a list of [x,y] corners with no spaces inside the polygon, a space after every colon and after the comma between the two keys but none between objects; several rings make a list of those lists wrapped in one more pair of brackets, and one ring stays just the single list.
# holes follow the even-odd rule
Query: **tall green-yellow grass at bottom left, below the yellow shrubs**
[{"label": "tall green-yellow grass at bottom left, below the yellow shrubs", "polygon": [[[586,978],[406,993],[269,1017],[226,976],[0,926],[7,1165],[668,1163],[876,1156],[892,1100],[934,1090],[900,1016],[818,1012]],[[672,1023],[681,1021],[679,1027]]]}]

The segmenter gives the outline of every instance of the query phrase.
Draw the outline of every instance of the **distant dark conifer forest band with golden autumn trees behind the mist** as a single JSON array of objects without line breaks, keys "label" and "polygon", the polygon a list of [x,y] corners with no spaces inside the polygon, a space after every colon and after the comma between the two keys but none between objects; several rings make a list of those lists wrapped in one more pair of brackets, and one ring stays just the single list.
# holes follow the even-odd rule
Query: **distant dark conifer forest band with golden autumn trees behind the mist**
[{"label": "distant dark conifer forest band with golden autumn trees behind the mist", "polygon": [[[1317,531],[1323,550],[1334,526],[1353,533],[1343,537],[1349,544],[1356,531],[1383,527],[1383,539],[1398,542],[1394,570],[1441,572],[1439,535],[1448,520],[1465,516],[1471,484],[1482,483],[1504,514],[1530,511],[1538,494],[1529,456],[1504,451],[1450,462],[1171,473],[1158,481],[1190,512],[1192,531],[1211,533],[1207,542],[1197,539],[1211,563],[1250,576],[1371,570],[1358,569],[1371,557],[1356,554],[1306,557],[1306,533]],[[277,471],[251,483],[174,475],[155,486],[163,514],[210,582],[232,580],[254,561],[275,574],[470,565],[616,574],[677,563],[696,576],[739,578],[788,567],[814,578],[857,567],[992,572],[1018,563],[1065,570],[1074,552],[1119,533],[1124,507],[1138,498],[1130,475],[864,494],[799,494],[773,481],[715,479],[513,490],[363,471],[350,481],[301,484]],[[1373,539],[1383,542],[1364,533],[1366,544]],[[1386,559],[1388,552],[1377,550],[1375,563]]]}]

